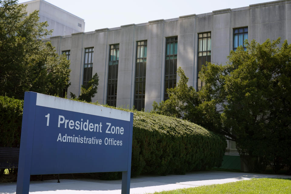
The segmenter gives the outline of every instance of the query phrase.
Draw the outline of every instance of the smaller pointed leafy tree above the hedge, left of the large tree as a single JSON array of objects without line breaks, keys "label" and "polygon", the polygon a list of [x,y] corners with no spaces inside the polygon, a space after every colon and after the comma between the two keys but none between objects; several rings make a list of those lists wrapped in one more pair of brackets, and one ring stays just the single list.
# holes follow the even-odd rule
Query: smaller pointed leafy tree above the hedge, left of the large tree
[{"label": "smaller pointed leafy tree above the hedge, left of the large tree", "polygon": [[153,103],[153,112],[162,115],[186,119],[209,129],[219,132],[219,111],[216,110],[216,101],[207,100],[192,86],[188,86],[189,78],[186,77],[181,67],[177,69],[180,79],[175,88],[167,89],[169,99]]}]

